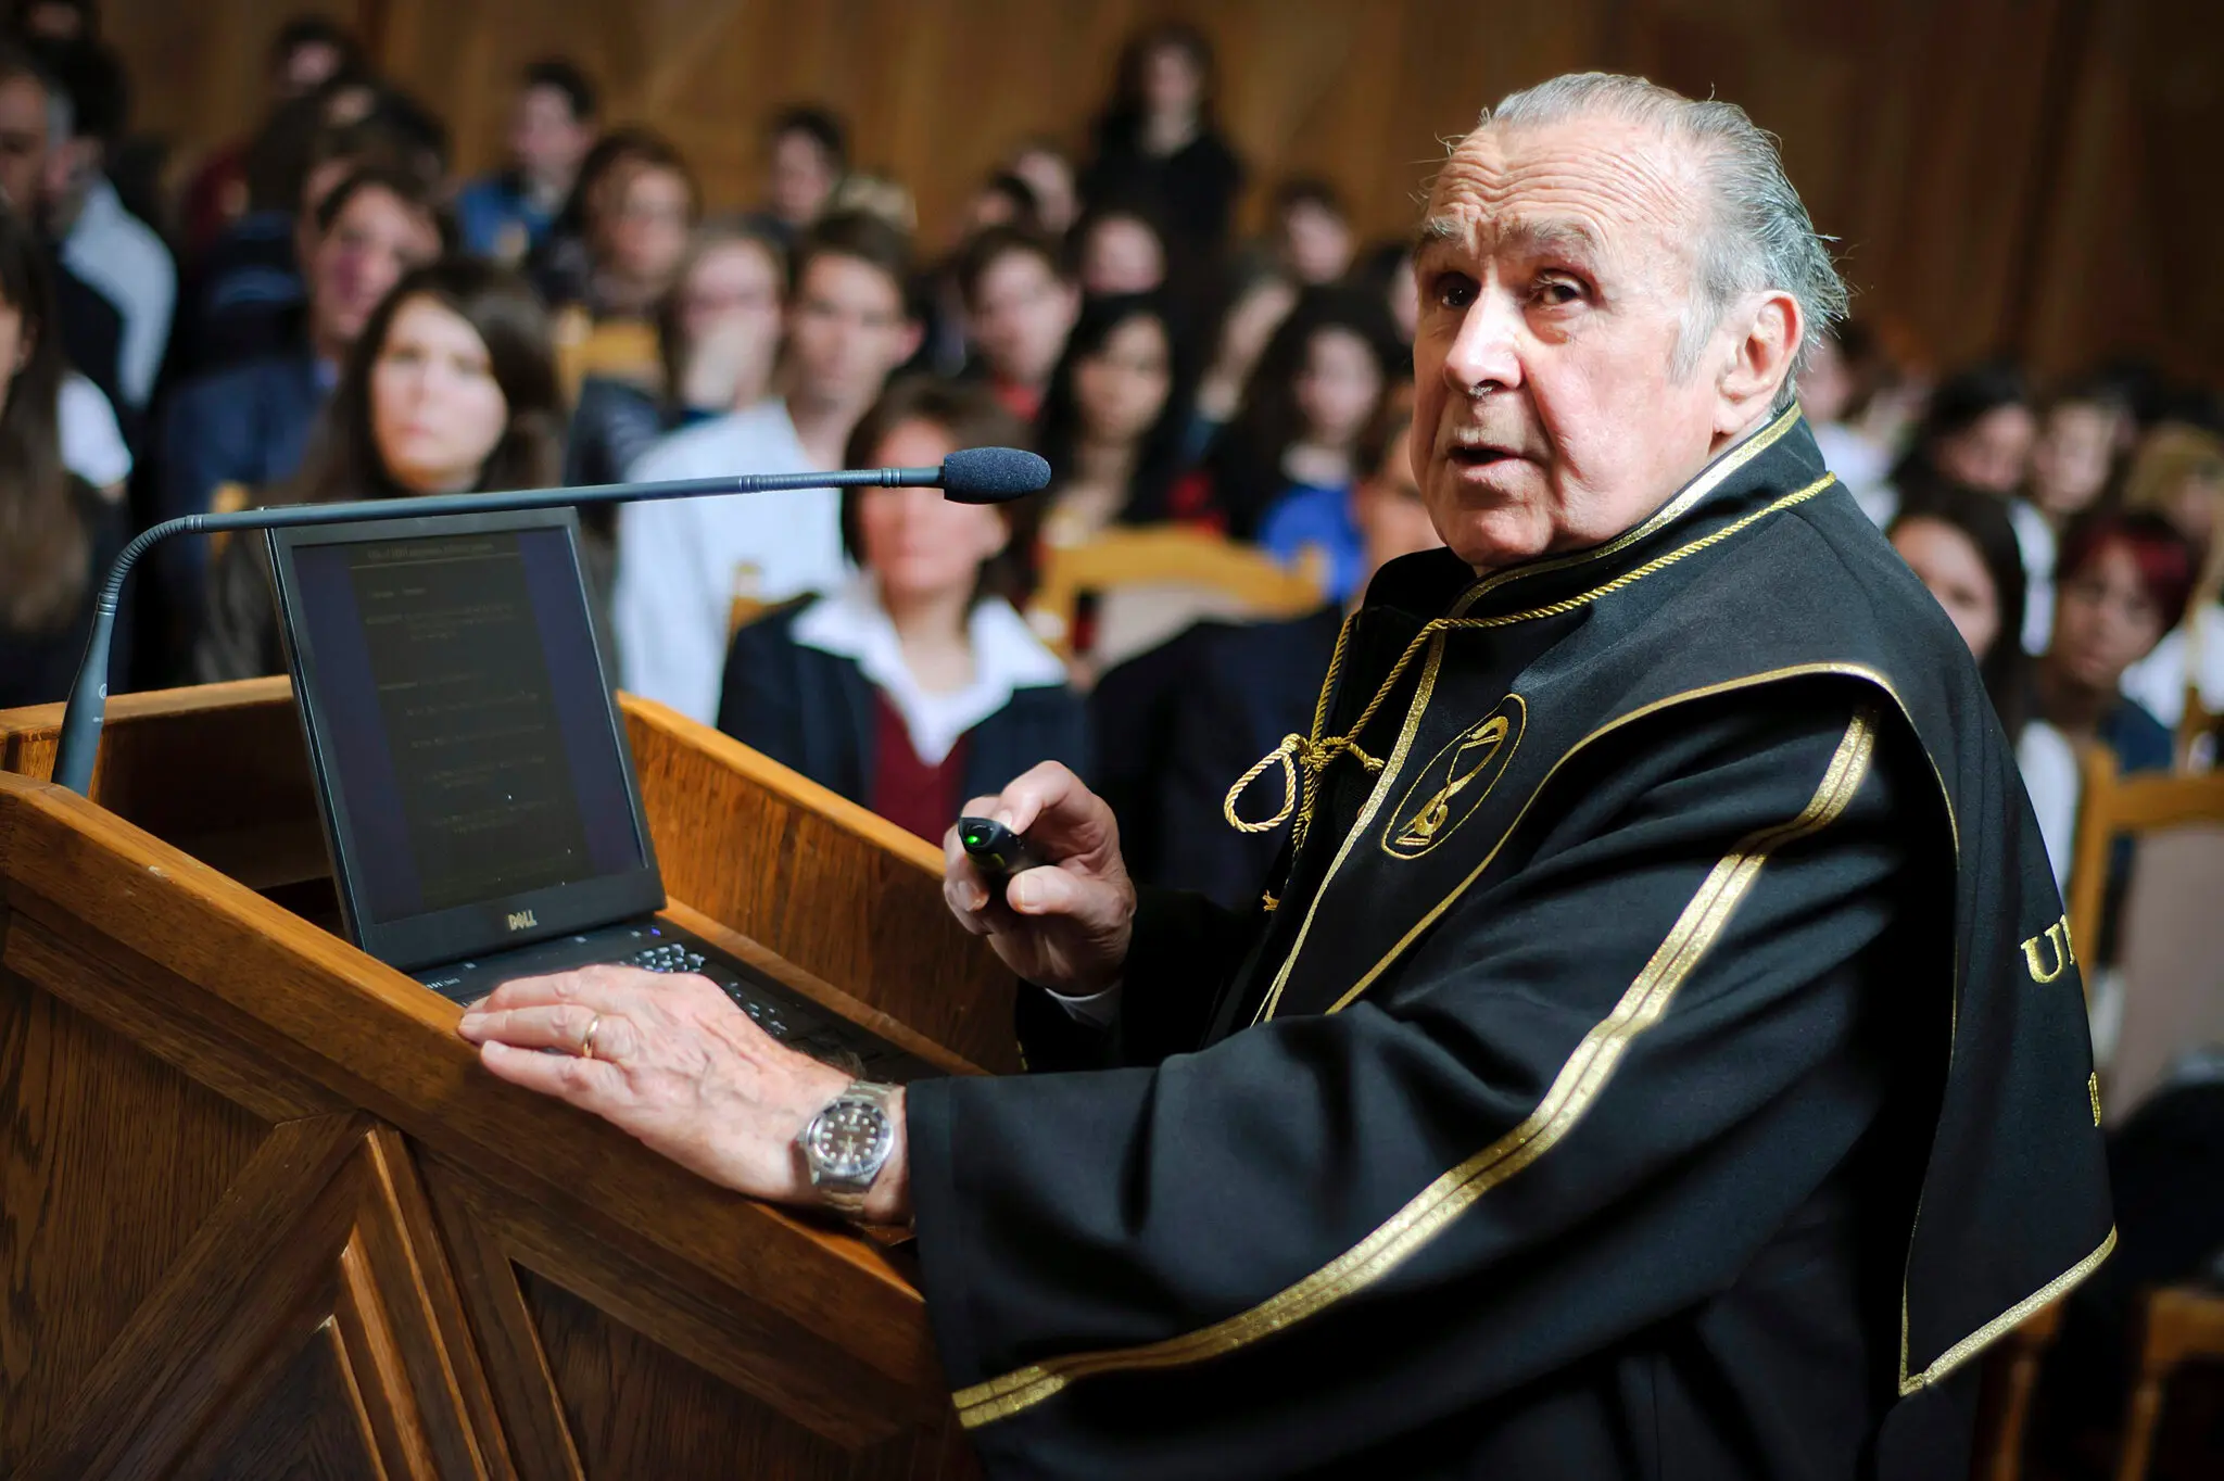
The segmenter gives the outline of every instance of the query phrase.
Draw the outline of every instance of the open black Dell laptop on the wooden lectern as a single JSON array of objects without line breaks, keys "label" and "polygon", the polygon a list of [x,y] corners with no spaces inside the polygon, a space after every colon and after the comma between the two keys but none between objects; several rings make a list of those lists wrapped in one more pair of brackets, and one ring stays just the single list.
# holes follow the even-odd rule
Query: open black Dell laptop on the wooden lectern
[{"label": "open black Dell laptop on the wooden lectern", "polygon": [[574,509],[267,531],[349,938],[456,1003],[516,976],[701,972],[767,1034],[939,1074],[658,916],[656,849]]}]

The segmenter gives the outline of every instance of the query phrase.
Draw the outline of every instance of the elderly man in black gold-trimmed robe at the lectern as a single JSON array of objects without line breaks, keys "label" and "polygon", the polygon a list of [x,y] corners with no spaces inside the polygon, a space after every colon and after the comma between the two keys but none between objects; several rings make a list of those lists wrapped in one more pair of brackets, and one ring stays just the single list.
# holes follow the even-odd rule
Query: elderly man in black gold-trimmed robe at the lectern
[{"label": "elderly man in black gold-trimmed robe at the lectern", "polygon": [[[1294,816],[1261,910],[1136,901],[1054,767],[974,809],[1056,867],[952,852],[1099,1067],[843,1094],[614,972],[465,1034],[732,1187],[870,1179],[992,1474],[1966,1474],[1968,1359],[2113,1234],[2006,743],[1793,407],[1844,289],[1739,109],[1630,78],[1508,98],[1428,209],[1448,551],[1230,798]],[[612,1063],[523,1052],[592,1014]]]}]

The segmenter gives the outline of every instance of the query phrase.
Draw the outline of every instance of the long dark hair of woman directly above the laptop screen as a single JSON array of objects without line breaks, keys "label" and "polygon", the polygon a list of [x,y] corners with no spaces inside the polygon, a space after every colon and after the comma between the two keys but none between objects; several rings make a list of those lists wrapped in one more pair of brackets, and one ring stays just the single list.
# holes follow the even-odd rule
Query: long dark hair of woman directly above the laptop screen
[{"label": "long dark hair of woman directly above the laptop screen", "polygon": [[431,298],[456,314],[487,347],[494,382],[509,405],[509,425],[487,454],[474,489],[538,489],[563,476],[563,396],[547,309],[523,278],[476,258],[443,258],[403,276],[347,354],[340,385],[311,440],[298,491],[302,503],[396,498],[407,494],[387,469],[371,434],[371,367],[411,298]]}]

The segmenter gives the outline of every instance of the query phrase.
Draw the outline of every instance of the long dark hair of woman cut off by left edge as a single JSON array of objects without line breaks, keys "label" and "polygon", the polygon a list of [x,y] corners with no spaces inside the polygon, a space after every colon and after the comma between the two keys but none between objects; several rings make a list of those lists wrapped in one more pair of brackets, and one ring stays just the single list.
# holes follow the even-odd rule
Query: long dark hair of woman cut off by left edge
[{"label": "long dark hair of woman cut off by left edge", "polygon": [[0,627],[42,632],[76,614],[91,580],[56,402],[62,340],[53,278],[29,222],[0,205],[0,300],[20,320],[20,362],[0,405]]}]

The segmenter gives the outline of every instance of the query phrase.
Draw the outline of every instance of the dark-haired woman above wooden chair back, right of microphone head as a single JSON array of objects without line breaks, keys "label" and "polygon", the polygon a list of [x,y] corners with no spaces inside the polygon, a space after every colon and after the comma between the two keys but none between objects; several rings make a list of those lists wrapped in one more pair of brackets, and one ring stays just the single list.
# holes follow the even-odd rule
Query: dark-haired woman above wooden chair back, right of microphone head
[{"label": "dark-haired woman above wooden chair back, right of microphone head", "polygon": [[1185,396],[1174,331],[1150,296],[1092,298],[1050,376],[1034,447],[1050,460],[1048,545],[1172,518]]}]

